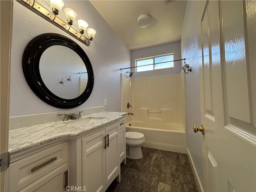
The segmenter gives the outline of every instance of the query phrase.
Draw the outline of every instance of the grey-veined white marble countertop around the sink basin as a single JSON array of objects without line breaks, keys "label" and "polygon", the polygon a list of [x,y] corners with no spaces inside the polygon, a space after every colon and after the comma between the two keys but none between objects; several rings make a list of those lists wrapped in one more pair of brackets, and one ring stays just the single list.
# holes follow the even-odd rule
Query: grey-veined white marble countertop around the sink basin
[{"label": "grey-veined white marble countertop around the sink basin", "polygon": [[100,112],[82,116],[84,118],[102,118],[86,125],[73,125],[72,121],[55,121],[9,131],[8,151],[10,155],[40,146],[47,142],[70,139],[102,128],[111,122],[120,120],[127,112]]}]

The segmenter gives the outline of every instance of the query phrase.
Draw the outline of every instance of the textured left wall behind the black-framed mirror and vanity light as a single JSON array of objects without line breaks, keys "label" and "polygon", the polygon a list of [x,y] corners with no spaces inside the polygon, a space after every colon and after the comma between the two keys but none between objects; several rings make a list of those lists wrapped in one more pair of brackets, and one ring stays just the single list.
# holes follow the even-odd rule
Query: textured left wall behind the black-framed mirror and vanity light
[{"label": "textured left wall behind the black-framed mirror and vanity light", "polygon": [[[89,1],[65,1],[65,7],[76,10],[78,13],[76,19],[86,20],[89,26],[97,31],[90,46],[75,40],[14,1],[10,117],[62,111],[62,109],[54,108],[40,100],[30,90],[22,72],[24,48],[32,38],[43,33],[58,33],[76,41],[92,63],[95,78],[94,89],[90,98],[75,109],[103,106],[104,99],[108,99],[106,111],[121,110],[120,70],[118,69],[130,66],[130,51]],[[60,17],[63,15],[64,13],[61,12]],[[62,19],[64,20],[64,18]],[[77,25],[76,22],[75,25]]]}]

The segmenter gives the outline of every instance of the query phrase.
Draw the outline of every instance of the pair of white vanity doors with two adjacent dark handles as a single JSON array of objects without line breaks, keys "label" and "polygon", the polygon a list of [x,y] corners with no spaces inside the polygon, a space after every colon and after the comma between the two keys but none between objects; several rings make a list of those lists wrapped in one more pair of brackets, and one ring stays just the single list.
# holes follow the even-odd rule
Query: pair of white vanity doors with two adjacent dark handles
[{"label": "pair of white vanity doors with two adjacent dark handles", "polygon": [[101,192],[120,174],[119,122],[82,139],[82,186]]}]

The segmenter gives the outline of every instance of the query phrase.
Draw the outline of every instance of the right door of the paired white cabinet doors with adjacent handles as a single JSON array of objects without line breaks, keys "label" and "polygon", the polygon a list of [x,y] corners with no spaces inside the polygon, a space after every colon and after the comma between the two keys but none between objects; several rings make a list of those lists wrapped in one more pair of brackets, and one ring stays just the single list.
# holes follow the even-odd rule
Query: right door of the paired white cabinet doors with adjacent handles
[{"label": "right door of the paired white cabinet doors with adjacent handles", "polygon": [[106,185],[110,184],[119,174],[118,128],[118,124],[106,128]]}]

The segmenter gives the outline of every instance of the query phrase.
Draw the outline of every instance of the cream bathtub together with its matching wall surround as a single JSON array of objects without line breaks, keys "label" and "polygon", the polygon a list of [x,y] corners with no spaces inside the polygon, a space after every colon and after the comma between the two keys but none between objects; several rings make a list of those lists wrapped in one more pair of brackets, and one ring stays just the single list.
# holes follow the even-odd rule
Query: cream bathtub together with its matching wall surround
[{"label": "cream bathtub together with its matching wall surround", "polygon": [[[122,75],[122,111],[126,131],[145,136],[143,146],[186,153],[183,74],[126,78]],[[132,100],[132,102],[130,102]],[[132,108],[127,109],[127,102]]]}]

